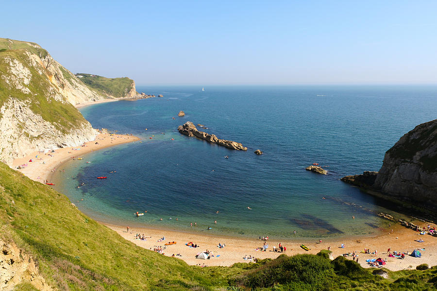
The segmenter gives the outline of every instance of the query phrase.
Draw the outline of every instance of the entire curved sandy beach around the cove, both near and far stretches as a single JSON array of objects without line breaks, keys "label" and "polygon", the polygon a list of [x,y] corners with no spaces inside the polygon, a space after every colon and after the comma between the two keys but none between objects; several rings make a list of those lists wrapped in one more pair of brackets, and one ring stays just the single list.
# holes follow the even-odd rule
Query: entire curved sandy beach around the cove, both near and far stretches
[{"label": "entire curved sandy beach around the cove, both near and far stretches", "polygon": [[[85,143],[84,147],[78,147],[80,150],[72,150],[70,148],[63,148],[55,150],[55,153],[40,154],[35,152],[24,158],[16,159],[13,162],[13,166],[17,166],[25,163],[35,155],[41,155],[41,160],[37,159],[35,162],[27,162],[28,167],[18,170],[23,174],[28,176],[34,181],[43,182],[44,180],[52,179],[55,171],[54,169],[59,168],[63,162],[71,159],[73,156],[81,156],[93,151],[101,150],[107,147],[115,146],[118,144],[129,143],[139,140],[138,137],[127,136],[127,135],[110,135],[110,134],[100,134],[96,137],[96,140]],[[95,142],[99,142],[98,145]],[[43,162],[46,162],[43,164]],[[85,162],[85,160],[83,160]],[[372,237],[360,237],[353,236],[341,239],[330,239],[323,240],[322,243],[318,243],[314,239],[302,238],[299,243],[296,240],[276,240],[270,238],[269,249],[267,252],[255,251],[257,247],[262,247],[263,241],[258,239],[241,238],[241,237],[231,237],[226,235],[213,235],[204,234],[196,232],[184,232],[178,230],[169,230],[164,228],[152,228],[152,227],[133,227],[130,228],[130,233],[126,232],[125,226],[120,226],[116,224],[100,222],[112,230],[116,231],[124,239],[132,241],[136,245],[151,249],[155,246],[162,245],[167,241],[177,241],[177,244],[167,246],[165,250],[166,256],[171,256],[173,254],[181,254],[186,263],[190,265],[196,264],[207,264],[209,266],[230,266],[236,262],[249,262],[249,260],[244,260],[244,256],[252,256],[257,258],[275,258],[281,255],[279,252],[273,252],[272,247],[275,245],[279,246],[279,242],[282,242],[287,247],[286,255],[295,254],[317,254],[321,249],[327,249],[329,246],[333,251],[333,256],[337,257],[343,253],[349,253],[356,251],[359,255],[359,263],[363,267],[370,267],[366,263],[368,258],[383,257],[387,258],[387,265],[385,266],[389,270],[397,271],[407,269],[410,265],[415,268],[417,265],[422,263],[428,263],[431,265],[437,264],[437,238],[431,236],[419,236],[417,232],[404,228],[399,224],[392,226],[394,234],[390,233],[391,229],[380,229],[380,234]],[[419,222],[420,225],[424,222]],[[428,224],[428,223],[427,223]],[[390,231],[390,232],[389,232]],[[135,240],[136,233],[145,234],[146,237],[150,237],[147,240]],[[158,242],[159,238],[163,236],[166,240],[163,242]],[[419,237],[423,238],[425,242],[416,242],[414,240]],[[185,246],[185,243],[192,241],[199,244],[200,248],[189,248]],[[358,242],[360,241],[360,242]],[[218,243],[224,243],[226,247],[218,248]],[[303,243],[311,250],[309,252],[304,251],[300,248],[300,244]],[[339,248],[341,243],[345,243],[345,248]],[[359,253],[364,248],[373,250],[378,250],[378,255],[361,254]],[[415,248],[425,248],[426,251],[422,252],[421,258],[414,258],[407,256],[405,259],[400,260],[396,258],[387,257],[386,250],[391,248],[392,251],[411,252]],[[213,257],[209,260],[199,260],[195,258],[195,255],[202,251],[212,251],[215,255],[220,255],[220,257]]]}]

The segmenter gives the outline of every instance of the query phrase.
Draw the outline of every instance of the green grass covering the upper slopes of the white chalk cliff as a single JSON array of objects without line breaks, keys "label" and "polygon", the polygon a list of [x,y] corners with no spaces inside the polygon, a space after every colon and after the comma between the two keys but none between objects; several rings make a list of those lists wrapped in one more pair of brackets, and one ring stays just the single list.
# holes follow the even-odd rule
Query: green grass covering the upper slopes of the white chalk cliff
[{"label": "green grass covering the upper slopes of the white chalk cliff", "polygon": [[[32,111],[40,114],[44,120],[53,123],[56,128],[62,132],[67,132],[69,128],[77,127],[79,124],[85,122],[82,114],[70,103],[62,103],[52,98],[50,98],[49,101],[47,100],[47,96],[50,94],[49,88],[52,87],[47,75],[51,76],[51,73],[46,71],[47,75],[40,75],[34,67],[28,65],[29,57],[24,52],[24,49],[1,51],[0,73],[8,75],[9,65],[6,60],[17,59],[31,71],[32,78],[27,87],[31,90],[32,94],[25,94],[15,88],[10,90],[9,85],[0,78],[0,107],[10,97],[22,101],[31,101],[30,108]],[[45,70],[44,68],[41,69]]]}]

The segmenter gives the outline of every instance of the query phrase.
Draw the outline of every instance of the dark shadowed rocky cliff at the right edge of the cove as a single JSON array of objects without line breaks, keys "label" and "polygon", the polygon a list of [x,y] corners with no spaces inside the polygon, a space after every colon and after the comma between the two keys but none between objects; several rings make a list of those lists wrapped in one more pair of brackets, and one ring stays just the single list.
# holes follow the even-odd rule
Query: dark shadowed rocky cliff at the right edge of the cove
[{"label": "dark shadowed rocky cliff at the right edge of the cove", "polygon": [[373,187],[393,198],[437,208],[437,120],[416,126],[387,151]]}]

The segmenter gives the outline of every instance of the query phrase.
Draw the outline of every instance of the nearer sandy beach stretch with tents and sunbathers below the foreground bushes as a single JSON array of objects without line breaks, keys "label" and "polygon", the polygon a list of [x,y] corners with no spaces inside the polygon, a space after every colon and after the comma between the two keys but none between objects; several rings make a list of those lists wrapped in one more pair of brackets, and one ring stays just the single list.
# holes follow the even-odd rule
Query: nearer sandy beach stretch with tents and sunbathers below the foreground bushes
[{"label": "nearer sandy beach stretch with tents and sunbathers below the foreground bushes", "polygon": [[[145,214],[147,215],[147,213]],[[120,236],[126,240],[134,242],[136,245],[145,249],[153,250],[158,246],[166,247],[163,250],[164,256],[176,256],[183,259],[189,265],[207,265],[207,266],[231,266],[237,262],[250,262],[250,259],[244,259],[244,257],[256,257],[260,259],[275,258],[283,254],[281,252],[273,252],[273,246],[279,247],[279,243],[286,246],[286,255],[296,254],[317,254],[320,250],[331,248],[334,257],[341,256],[345,253],[356,252],[358,254],[358,263],[365,268],[370,267],[366,262],[366,259],[383,258],[387,260],[385,268],[398,271],[403,269],[414,269],[417,265],[428,264],[429,266],[437,265],[437,238],[429,235],[419,235],[418,232],[411,229],[407,229],[401,225],[392,225],[392,229],[381,229],[381,234],[374,237],[363,237],[360,239],[344,239],[344,240],[331,240],[323,241],[309,241],[302,239],[302,241],[286,241],[275,240],[269,238],[267,240],[269,248],[266,252],[256,250],[263,246],[264,241],[258,238],[244,239],[244,238],[230,238],[230,237],[217,237],[207,236],[203,234],[178,232],[171,230],[157,230],[151,228],[138,228],[132,227],[127,232],[126,226],[118,226],[107,223],[102,223],[109,228],[115,230]],[[421,224],[424,224],[421,222]],[[420,225],[421,225],[420,224]],[[141,234],[146,237],[146,240],[136,239],[136,234]],[[158,241],[162,237],[166,239]],[[417,242],[418,239],[424,240],[423,242]],[[176,241],[176,244],[165,246],[167,242]],[[199,247],[191,248],[185,245],[185,243],[193,242]],[[225,244],[225,247],[219,248],[218,243]],[[310,248],[309,251],[303,250],[300,245],[303,243]],[[340,245],[344,243],[345,247],[340,248]],[[377,250],[377,254],[364,254],[361,251],[370,249],[370,252]],[[391,252],[412,252],[414,249],[424,249],[421,252],[421,257],[405,256],[404,259],[396,257],[388,257],[387,249],[390,248]],[[195,256],[200,252],[206,250],[213,253],[214,257],[203,260],[197,259]],[[352,259],[352,257],[347,257]]]}]

